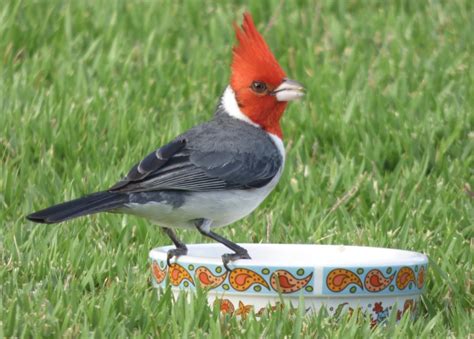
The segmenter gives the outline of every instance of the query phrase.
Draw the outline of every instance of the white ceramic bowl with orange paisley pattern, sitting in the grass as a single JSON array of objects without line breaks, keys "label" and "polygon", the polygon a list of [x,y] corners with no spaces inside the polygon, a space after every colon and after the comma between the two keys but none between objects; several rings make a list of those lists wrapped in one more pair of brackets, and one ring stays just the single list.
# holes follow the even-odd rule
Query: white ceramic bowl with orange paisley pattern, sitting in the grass
[{"label": "white ceramic bowl with orange paisley pattern, sitting in the grass", "polygon": [[[227,271],[220,244],[188,246],[188,255],[168,267],[170,246],[150,252],[153,284],[173,292],[202,286],[209,302],[225,313],[257,315],[282,300],[293,306],[303,300],[308,312],[326,307],[329,314],[361,310],[374,324],[391,312],[416,314],[425,285],[428,258],[396,249],[342,245],[240,244],[251,260],[238,260]],[[302,296],[302,298],[301,298]]]}]

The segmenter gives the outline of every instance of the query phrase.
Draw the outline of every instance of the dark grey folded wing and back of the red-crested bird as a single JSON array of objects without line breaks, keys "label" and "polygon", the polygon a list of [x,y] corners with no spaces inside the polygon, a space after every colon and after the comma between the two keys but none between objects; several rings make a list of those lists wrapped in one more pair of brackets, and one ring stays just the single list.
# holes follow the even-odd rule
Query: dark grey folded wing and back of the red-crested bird
[{"label": "dark grey folded wing and back of the red-crested bird", "polygon": [[253,126],[221,125],[198,126],[150,153],[110,191],[250,189],[270,182],[282,165],[270,137]]}]

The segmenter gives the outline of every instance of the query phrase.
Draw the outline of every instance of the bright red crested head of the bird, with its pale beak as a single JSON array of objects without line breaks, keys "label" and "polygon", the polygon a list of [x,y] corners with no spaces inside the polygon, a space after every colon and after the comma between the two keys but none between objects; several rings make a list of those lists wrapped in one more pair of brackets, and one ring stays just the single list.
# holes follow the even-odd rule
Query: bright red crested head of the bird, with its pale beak
[{"label": "bright red crested head of the bird, with its pale beak", "polygon": [[237,45],[233,49],[230,86],[240,112],[269,133],[282,137],[280,118],[287,101],[303,95],[303,87],[287,80],[285,72],[244,14],[242,27],[234,24]]}]

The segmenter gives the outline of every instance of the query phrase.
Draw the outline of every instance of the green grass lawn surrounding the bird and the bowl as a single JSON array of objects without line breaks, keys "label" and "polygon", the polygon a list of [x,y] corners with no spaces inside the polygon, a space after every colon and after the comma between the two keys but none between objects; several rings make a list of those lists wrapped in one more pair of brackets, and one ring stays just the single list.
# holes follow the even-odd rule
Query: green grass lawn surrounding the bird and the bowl
[{"label": "green grass lawn surrounding the bird and the bowl", "polygon": [[[1,0],[0,337],[472,335],[473,4]],[[157,299],[147,254],[169,240],[145,220],[25,220],[209,119],[245,9],[308,95],[283,119],[279,186],[220,233],[424,252],[415,323],[220,319],[202,295]]]}]

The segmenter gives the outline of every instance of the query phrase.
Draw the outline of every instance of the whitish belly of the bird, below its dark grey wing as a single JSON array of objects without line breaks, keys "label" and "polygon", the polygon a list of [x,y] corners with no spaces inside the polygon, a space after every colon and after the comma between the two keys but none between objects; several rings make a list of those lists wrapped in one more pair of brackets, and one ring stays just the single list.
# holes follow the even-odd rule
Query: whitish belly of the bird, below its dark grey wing
[{"label": "whitish belly of the bird, below its dark grey wing", "polygon": [[214,192],[193,192],[183,205],[174,208],[166,202],[130,203],[120,212],[149,219],[164,227],[194,228],[196,219],[212,220],[211,227],[233,223],[249,215],[276,186],[281,171],[262,188]]}]

